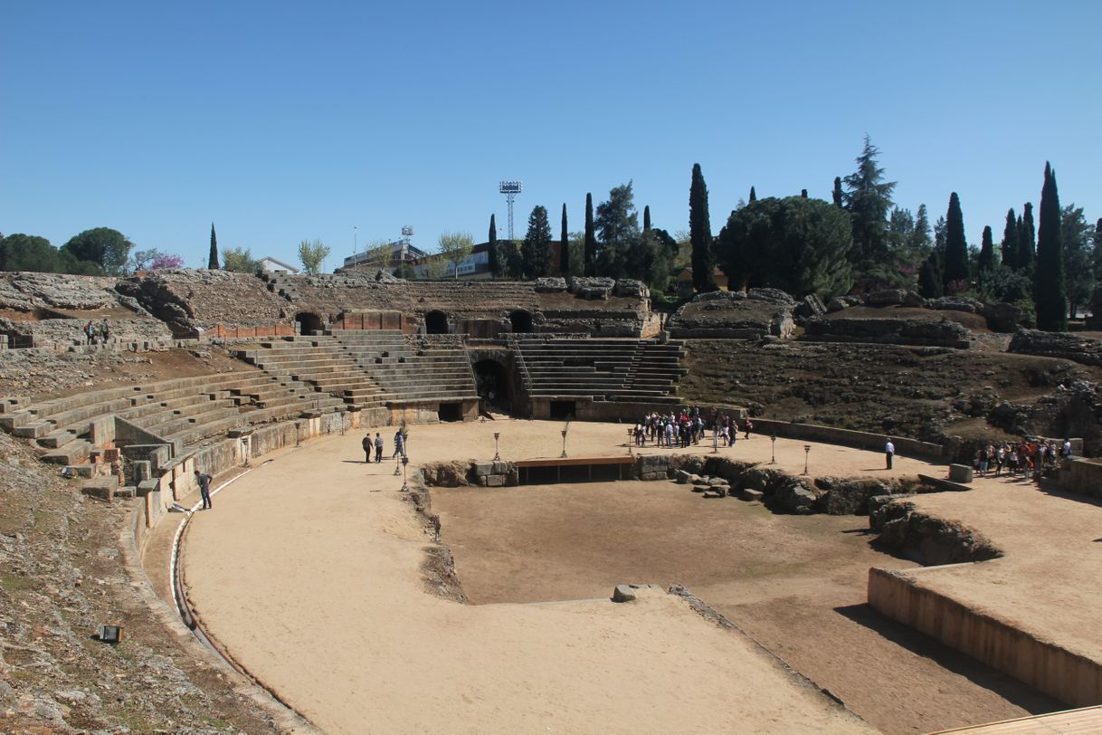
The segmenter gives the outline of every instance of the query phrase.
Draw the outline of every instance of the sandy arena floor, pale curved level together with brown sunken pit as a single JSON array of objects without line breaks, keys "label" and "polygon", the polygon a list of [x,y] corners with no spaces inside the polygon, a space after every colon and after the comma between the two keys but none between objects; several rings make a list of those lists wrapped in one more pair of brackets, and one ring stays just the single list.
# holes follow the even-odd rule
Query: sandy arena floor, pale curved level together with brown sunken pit
[{"label": "sandy arena floor, pale curved level together with brown sunken pit", "polygon": [[[410,457],[487,460],[495,431],[503,458],[557,457],[562,428],[417,425]],[[392,429],[380,431],[389,446]],[[568,453],[626,454],[625,431],[572,423]],[[687,584],[820,685],[833,673],[838,689],[830,689],[888,732],[1050,709],[925,638],[866,619],[874,614],[862,609],[858,581],[867,568],[908,562],[869,550],[858,531],[866,521],[857,517],[785,518],[641,483],[581,504],[581,495],[557,496],[566,491],[561,486],[437,489],[434,509],[444,516],[460,579],[473,602],[493,604],[447,602],[424,588],[428,539],[397,491],[401,478],[392,464],[363,464],[361,435],[273,455],[194,519],[184,553],[188,594],[207,629],[327,732],[868,729],[677,598],[609,603],[612,585],[628,581]],[[776,450],[781,468],[802,471],[802,442],[778,440]],[[722,452],[767,462],[769,441],[757,436]],[[812,444],[810,462],[812,474],[886,474],[879,453]],[[929,471],[908,457],[895,464],[896,475]],[[525,489],[541,495],[510,500]],[[478,496],[494,502],[478,506]],[[798,521],[808,523],[802,533],[792,532]],[[745,531],[734,541],[723,532],[732,523]],[[496,544],[486,559],[496,554],[500,569],[479,568],[486,562],[467,551],[478,543],[465,533]],[[542,559],[534,553],[539,538],[557,539]],[[603,538],[619,539],[625,551],[609,555]],[[501,539],[530,543],[504,548]],[[665,551],[648,551],[644,541]],[[537,579],[534,569],[545,574]],[[550,599],[573,602],[516,604]],[[916,673],[899,679],[899,657],[910,659]],[[852,692],[839,691],[846,688]],[[863,699],[866,690],[872,694]],[[916,690],[933,695],[903,705]],[[876,704],[884,701],[899,706]]]}]

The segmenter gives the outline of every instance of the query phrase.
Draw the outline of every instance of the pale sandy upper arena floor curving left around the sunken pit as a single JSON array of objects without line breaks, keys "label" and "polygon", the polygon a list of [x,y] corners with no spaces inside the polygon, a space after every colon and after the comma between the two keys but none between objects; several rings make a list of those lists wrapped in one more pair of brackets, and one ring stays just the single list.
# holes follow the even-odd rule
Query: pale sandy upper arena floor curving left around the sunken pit
[{"label": "pale sandy upper arena floor curving left around the sunken pit", "polygon": [[[410,447],[414,461],[485,458],[497,430],[504,457],[557,456],[560,429],[414,426]],[[613,446],[622,432],[573,424],[571,441],[625,451]],[[782,444],[785,462],[802,463],[802,445],[778,441],[778,455]],[[327,732],[872,731],[662,593],[625,605],[432,595],[420,573],[428,539],[392,466],[360,457],[350,434],[276,455],[215,497],[184,553],[209,631]]]}]

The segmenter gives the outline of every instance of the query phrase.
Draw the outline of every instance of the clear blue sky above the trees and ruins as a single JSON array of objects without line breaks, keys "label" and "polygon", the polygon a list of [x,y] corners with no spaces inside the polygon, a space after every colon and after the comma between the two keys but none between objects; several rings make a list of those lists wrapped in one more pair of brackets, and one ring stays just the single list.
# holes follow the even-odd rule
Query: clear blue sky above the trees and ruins
[{"label": "clear blue sky above the trees and ruins", "polygon": [[628,180],[688,228],[749,187],[830,198],[867,132],[895,199],[970,241],[1037,204],[1102,217],[1102,2],[52,2],[0,6],[0,231],[112,227],[206,264],[417,230],[558,236]]}]

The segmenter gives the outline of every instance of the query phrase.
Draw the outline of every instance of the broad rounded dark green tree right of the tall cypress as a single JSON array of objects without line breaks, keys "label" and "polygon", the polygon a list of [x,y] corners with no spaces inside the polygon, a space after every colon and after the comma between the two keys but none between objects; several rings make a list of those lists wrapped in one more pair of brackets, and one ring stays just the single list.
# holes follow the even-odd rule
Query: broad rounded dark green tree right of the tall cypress
[{"label": "broad rounded dark green tree right of the tall cypress", "polygon": [[732,284],[829,298],[853,285],[849,215],[822,199],[767,197],[731,213],[717,256]]}]

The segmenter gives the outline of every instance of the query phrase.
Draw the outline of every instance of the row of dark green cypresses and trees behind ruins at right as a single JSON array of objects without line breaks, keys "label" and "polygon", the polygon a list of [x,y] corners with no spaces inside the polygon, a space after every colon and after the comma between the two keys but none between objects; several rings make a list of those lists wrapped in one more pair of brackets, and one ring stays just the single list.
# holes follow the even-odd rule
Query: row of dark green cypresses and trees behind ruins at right
[{"label": "row of dark green cypresses and trees behind ruins at right", "polygon": [[834,179],[830,202],[809,197],[807,190],[758,198],[750,186],[748,201],[737,203],[715,236],[699,163],[690,182],[689,229],[677,236],[652,227],[649,207],[639,226],[630,181],[609,191],[596,216],[593,195],[586,194],[581,233],[569,233],[562,205],[558,262],[552,262],[545,207],[533,207],[521,241],[499,240],[491,215],[489,269],[495,278],[635,278],[658,292],[684,267],[691,268],[698,293],[716,289],[716,268],[730,289],[768,287],[796,296],[908,289],[925,298],[1008,302],[1027,323],[1050,331],[1066,329],[1069,316],[1095,301],[1102,313],[1102,289],[1095,298],[1102,284],[1102,218],[1091,225],[1082,207],[1060,206],[1049,163],[1036,225],[1026,202],[1020,215],[1013,207],[1007,212],[998,245],[986,226],[976,246],[965,236],[957,192],[931,226],[925,204],[915,214],[896,205],[896,182],[886,180],[878,156],[866,136],[856,170]]}]

